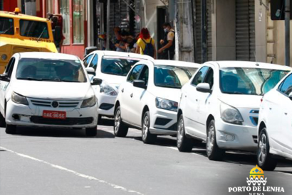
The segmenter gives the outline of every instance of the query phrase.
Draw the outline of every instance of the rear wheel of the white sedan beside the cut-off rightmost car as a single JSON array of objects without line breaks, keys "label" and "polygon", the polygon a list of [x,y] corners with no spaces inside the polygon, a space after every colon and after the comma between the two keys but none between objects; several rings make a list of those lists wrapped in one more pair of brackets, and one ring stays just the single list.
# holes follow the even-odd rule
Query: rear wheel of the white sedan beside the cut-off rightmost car
[{"label": "rear wheel of the white sedan beside the cut-off rightmost car", "polygon": [[184,118],[179,116],[178,126],[177,126],[177,148],[179,152],[191,152],[194,142],[192,138],[187,138],[184,130]]}]

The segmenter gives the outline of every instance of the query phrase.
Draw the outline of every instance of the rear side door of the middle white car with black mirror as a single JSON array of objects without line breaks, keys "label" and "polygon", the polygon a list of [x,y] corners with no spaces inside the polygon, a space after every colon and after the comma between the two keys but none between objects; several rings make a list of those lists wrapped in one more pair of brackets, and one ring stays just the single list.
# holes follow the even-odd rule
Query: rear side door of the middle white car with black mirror
[{"label": "rear side door of the middle white car with black mirror", "polygon": [[132,113],[133,111],[131,111],[131,109],[133,109],[132,107],[132,91],[133,91],[133,85],[132,82],[135,79],[138,79],[140,76],[140,72],[142,71],[142,67],[144,65],[135,65],[135,67],[132,68],[132,70],[130,71],[130,74],[128,74],[127,76],[127,82],[123,83],[122,86],[120,87],[120,111],[121,111],[121,116],[122,116],[122,120],[131,123],[132,120],[130,120],[130,113]]}]

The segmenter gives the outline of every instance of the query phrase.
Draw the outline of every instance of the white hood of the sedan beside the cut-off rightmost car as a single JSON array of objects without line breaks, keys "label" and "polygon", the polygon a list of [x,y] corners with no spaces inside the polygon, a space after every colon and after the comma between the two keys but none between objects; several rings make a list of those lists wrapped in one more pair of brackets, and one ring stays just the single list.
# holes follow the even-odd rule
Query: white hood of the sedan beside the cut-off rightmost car
[{"label": "white hood of the sedan beside the cut-off rightmost car", "polygon": [[263,96],[221,94],[219,100],[235,108],[259,108]]}]

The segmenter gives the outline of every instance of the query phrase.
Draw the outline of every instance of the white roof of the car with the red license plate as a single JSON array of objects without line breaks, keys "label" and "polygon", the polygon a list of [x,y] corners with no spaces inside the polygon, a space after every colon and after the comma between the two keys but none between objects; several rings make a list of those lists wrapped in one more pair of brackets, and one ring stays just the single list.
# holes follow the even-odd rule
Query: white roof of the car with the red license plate
[{"label": "white roof of the car with the red license plate", "polygon": [[21,52],[20,58],[53,59],[53,60],[79,60],[75,55],[56,52]]}]

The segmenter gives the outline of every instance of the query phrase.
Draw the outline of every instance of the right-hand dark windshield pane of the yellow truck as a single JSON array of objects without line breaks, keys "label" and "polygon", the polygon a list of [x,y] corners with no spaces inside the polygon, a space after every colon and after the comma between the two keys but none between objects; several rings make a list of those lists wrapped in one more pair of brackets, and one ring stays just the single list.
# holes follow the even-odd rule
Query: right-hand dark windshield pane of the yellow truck
[{"label": "right-hand dark windshield pane of the yellow truck", "polygon": [[20,35],[31,38],[48,38],[47,23],[20,20]]}]

